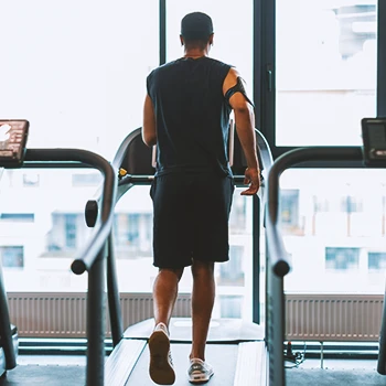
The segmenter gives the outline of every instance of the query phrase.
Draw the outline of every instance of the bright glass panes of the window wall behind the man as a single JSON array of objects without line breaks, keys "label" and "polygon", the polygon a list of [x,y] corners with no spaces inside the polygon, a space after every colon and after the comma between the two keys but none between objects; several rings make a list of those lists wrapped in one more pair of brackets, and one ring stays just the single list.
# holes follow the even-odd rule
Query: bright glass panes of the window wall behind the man
[{"label": "bright glass panes of the window wall behind the man", "polygon": [[[167,7],[165,31],[159,25],[160,3]],[[111,160],[126,135],[141,126],[146,77],[159,65],[160,33],[165,32],[167,61],[181,57],[181,19],[203,11],[214,22],[210,56],[235,65],[249,95],[267,83],[266,73],[253,78],[266,64],[254,58],[276,52],[276,109],[265,98],[255,100],[261,120],[276,120],[261,127],[272,136],[276,130],[271,146],[361,143],[361,118],[375,116],[379,105],[377,75],[385,66],[376,63],[382,39],[377,11],[383,3],[276,0],[276,31],[257,36],[261,31],[254,25],[254,12],[264,25],[271,17],[257,17],[254,4],[261,3],[274,7],[270,0],[2,2],[0,12],[7,17],[0,35],[7,39],[0,40],[0,118],[30,120],[30,148],[83,148]],[[69,265],[92,233],[84,208],[100,180],[99,173],[78,169],[3,173],[0,251],[8,290],[86,289],[87,276],[73,275]],[[383,292],[382,172],[291,170],[281,183],[281,224],[294,261],[286,289]],[[216,315],[250,312],[251,202],[235,192],[230,261],[216,268],[222,298]],[[151,223],[149,186],[136,186],[115,215],[120,291],[151,291],[158,272]],[[180,289],[190,291],[191,285],[186,270]]]}]

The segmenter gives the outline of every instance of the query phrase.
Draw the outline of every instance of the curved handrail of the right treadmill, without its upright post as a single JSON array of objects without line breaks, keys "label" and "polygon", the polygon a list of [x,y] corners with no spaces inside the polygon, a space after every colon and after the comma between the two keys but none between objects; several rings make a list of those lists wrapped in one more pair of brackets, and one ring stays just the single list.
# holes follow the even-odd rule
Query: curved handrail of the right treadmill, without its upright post
[{"label": "curved handrail of the right treadmill, without its upright post", "polygon": [[303,162],[363,160],[361,147],[309,147],[298,148],[280,156],[272,164],[268,175],[267,234],[271,269],[277,276],[286,276],[291,269],[279,228],[279,179],[283,171]]}]

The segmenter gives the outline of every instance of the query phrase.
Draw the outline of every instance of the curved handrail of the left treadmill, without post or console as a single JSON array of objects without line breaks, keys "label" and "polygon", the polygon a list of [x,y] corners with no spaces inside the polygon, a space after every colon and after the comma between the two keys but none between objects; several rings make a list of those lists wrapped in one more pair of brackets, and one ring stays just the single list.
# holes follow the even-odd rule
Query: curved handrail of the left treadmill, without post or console
[{"label": "curved handrail of the left treadmill, without post or console", "polygon": [[96,260],[98,253],[105,246],[111,232],[114,219],[114,202],[117,190],[117,179],[111,164],[101,156],[83,149],[26,149],[24,162],[33,163],[35,168],[45,168],[50,162],[68,162],[58,164],[58,168],[72,168],[72,162],[81,162],[90,165],[104,175],[101,192],[100,224],[95,229],[94,237],[78,253],[78,257],[72,264],[74,274],[81,275],[89,270]]}]

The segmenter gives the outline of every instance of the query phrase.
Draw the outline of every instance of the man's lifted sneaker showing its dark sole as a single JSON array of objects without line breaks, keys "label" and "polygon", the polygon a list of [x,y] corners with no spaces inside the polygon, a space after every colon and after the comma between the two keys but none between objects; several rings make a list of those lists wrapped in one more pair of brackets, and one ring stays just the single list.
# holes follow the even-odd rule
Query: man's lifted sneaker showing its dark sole
[{"label": "man's lifted sneaker showing its dark sole", "polygon": [[163,323],[157,324],[149,339],[150,378],[159,385],[173,385],[175,373],[170,352],[168,328]]}]

